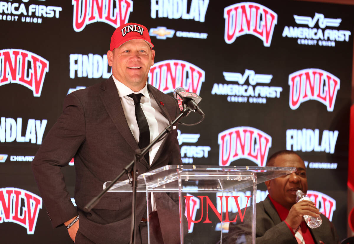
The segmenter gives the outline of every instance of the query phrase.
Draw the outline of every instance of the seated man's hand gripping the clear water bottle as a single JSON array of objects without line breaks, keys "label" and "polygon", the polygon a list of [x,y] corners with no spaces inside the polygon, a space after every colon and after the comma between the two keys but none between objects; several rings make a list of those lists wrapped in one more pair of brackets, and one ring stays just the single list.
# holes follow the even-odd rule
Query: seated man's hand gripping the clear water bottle
[{"label": "seated man's hand gripping the clear water bottle", "polygon": [[304,215],[318,217],[320,216],[320,213],[321,212],[315,207],[313,202],[309,200],[302,200],[292,205],[285,221],[292,229],[296,229],[301,224]]}]

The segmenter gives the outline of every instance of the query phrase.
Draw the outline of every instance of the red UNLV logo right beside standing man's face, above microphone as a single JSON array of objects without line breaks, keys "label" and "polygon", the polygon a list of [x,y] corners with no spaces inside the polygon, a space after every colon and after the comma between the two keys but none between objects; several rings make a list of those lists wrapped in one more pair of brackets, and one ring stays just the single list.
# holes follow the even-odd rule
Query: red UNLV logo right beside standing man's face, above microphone
[{"label": "red UNLV logo right beside standing man's face, above microphone", "polygon": [[187,92],[199,95],[205,72],[194,64],[183,60],[165,60],[150,68],[148,82],[164,93],[183,87]]}]

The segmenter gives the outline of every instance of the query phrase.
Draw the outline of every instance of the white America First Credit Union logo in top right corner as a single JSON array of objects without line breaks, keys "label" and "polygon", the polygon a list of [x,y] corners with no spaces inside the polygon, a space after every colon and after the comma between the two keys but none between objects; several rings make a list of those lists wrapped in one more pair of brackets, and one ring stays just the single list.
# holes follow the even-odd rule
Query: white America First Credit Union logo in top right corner
[{"label": "white America First Credit Union logo in top right corner", "polygon": [[[297,43],[301,45],[335,46],[336,41],[349,41],[351,32],[349,30],[324,29],[326,27],[339,27],[342,19],[325,18],[321,13],[315,13],[315,16],[297,16],[294,15],[297,24],[308,25],[308,27],[285,26],[282,36],[289,38],[298,38]],[[320,28],[313,28],[318,23]]]}]

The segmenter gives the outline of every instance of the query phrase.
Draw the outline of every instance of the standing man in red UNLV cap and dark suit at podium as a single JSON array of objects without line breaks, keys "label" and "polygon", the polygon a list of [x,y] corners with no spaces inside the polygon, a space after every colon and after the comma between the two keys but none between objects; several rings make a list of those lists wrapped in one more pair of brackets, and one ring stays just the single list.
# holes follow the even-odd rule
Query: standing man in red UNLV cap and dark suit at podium
[{"label": "standing man in red UNLV cap and dark suit at podium", "polygon": [[[133,160],[136,149],[148,146],[180,113],[175,99],[147,83],[154,64],[153,47],[145,26],[118,27],[107,52],[113,75],[65,98],[62,115],[32,162],[52,226],[64,224],[75,243],[129,243],[131,193],[107,193],[90,212],[83,208],[102,191],[104,182],[112,181]],[[176,126],[145,156],[136,165],[139,174],[182,164]],[[72,158],[77,207],[61,171]],[[156,193],[151,199],[151,219],[158,223],[154,243],[178,243],[179,228],[170,224],[179,223],[178,198]],[[146,243],[145,193],[137,193],[136,200],[136,243]]]}]

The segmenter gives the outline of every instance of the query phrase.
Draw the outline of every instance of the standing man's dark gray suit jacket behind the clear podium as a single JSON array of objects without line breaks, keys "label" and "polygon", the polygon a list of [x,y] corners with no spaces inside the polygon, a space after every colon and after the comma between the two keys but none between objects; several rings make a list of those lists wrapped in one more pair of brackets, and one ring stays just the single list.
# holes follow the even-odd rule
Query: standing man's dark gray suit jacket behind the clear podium
[{"label": "standing man's dark gray suit jacket behind the clear podium", "polygon": [[[151,85],[148,85],[148,90],[162,114],[169,121],[175,119],[180,112],[176,100]],[[138,148],[112,76],[87,89],[70,93],[64,100],[62,115],[48,132],[32,161],[32,170],[52,226],[59,226],[79,214],[80,232],[93,242],[129,243],[131,193],[107,193],[89,213],[82,209],[102,191],[104,182],[112,181],[120,174]],[[77,208],[70,200],[61,172],[61,167],[68,165],[73,157]],[[143,158],[137,169],[142,174],[167,164],[182,164],[177,129],[165,137],[151,166]],[[121,181],[126,179],[125,175]],[[156,194],[155,199],[158,211],[164,211],[161,216],[159,214],[164,241],[172,243],[174,241],[169,238],[173,234],[164,236],[164,228],[167,232],[173,232],[176,228],[170,230],[166,221],[176,216],[166,216],[165,209],[176,208],[178,213],[175,204],[178,199],[173,199],[174,202],[165,193]],[[145,193],[137,193],[136,211],[138,227],[146,211]],[[178,216],[177,221],[179,223]]]}]

